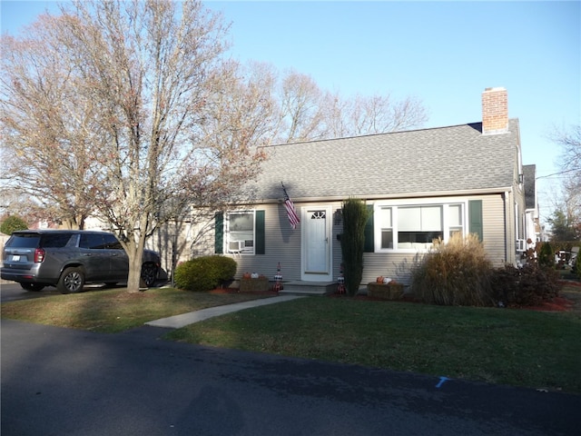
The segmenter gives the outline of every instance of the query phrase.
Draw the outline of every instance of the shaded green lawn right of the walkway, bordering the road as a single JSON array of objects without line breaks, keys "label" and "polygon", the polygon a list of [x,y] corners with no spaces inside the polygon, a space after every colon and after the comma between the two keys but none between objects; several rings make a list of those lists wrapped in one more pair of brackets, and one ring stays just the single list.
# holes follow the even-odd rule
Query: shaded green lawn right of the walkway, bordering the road
[{"label": "shaded green lawn right of the walkway, bordering the road", "polygon": [[171,332],[178,341],[581,392],[578,314],[306,298]]}]

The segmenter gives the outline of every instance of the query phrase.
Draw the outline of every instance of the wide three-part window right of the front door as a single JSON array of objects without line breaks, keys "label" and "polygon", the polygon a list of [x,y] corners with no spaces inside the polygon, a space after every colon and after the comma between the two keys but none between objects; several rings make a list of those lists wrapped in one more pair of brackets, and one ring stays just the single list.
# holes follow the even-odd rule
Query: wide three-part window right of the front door
[{"label": "wide three-part window right of the front door", "polygon": [[465,234],[465,213],[464,203],[376,205],[376,249],[428,250],[438,238]]}]

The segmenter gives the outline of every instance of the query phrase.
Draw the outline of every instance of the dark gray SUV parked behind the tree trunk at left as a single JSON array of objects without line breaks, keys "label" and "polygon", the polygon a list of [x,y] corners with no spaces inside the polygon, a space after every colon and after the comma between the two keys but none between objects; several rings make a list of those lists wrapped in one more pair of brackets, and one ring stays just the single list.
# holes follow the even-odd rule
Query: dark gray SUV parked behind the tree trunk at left
[{"label": "dark gray SUV parked behind the tree trunk at left", "polygon": [[[83,230],[25,230],[5,243],[0,275],[28,291],[56,286],[80,292],[86,282],[126,282],[129,261],[113,233]],[[160,270],[160,255],[143,252],[142,279],[151,286]]]}]

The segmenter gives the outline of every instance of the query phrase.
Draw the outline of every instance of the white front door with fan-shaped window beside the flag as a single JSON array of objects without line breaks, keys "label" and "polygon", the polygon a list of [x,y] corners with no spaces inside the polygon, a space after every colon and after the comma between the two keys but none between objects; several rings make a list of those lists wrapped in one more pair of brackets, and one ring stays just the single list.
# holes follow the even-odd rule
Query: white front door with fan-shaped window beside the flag
[{"label": "white front door with fan-shaped window beside the flag", "polygon": [[330,207],[303,207],[301,280],[328,282],[331,274]]}]

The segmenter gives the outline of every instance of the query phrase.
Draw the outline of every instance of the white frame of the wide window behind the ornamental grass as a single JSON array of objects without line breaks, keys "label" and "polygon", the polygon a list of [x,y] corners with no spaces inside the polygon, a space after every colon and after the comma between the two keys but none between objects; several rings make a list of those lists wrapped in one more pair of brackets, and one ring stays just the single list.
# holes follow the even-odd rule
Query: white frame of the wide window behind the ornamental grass
[{"label": "white frame of the wide window behind the ornamental grass", "polygon": [[[461,226],[451,225],[449,206],[460,205],[462,208]],[[461,232],[463,236],[468,234],[468,199],[466,198],[456,198],[456,197],[446,197],[438,199],[418,199],[413,201],[383,201],[373,204],[373,212],[375,217],[380,217],[382,208],[391,208],[391,232],[392,232],[392,245],[393,248],[382,248],[381,247],[381,236],[382,231],[385,230],[379,219],[373,220],[373,236],[375,253],[418,253],[418,252],[428,252],[431,248],[431,243],[415,243],[411,247],[399,247],[399,229],[398,229],[398,211],[401,207],[414,207],[414,206],[440,206],[442,207],[442,236],[445,243],[450,239],[450,229],[458,229],[461,227]]]}]

